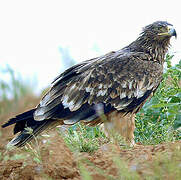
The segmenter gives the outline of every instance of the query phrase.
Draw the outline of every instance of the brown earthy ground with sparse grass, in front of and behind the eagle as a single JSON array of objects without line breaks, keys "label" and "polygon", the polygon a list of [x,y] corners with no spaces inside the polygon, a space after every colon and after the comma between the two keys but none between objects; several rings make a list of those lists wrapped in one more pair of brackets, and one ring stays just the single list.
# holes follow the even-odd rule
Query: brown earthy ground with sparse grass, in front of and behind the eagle
[{"label": "brown earthy ground with sparse grass, in front of and behind the eagle", "polygon": [[[31,97],[32,101],[32,97]],[[36,104],[38,99],[33,102]],[[26,102],[29,102],[26,99]],[[26,108],[32,107],[28,104]],[[5,121],[24,108],[24,102]],[[25,110],[25,109],[24,109]],[[136,144],[133,148],[115,143],[102,143],[98,150],[87,153],[71,151],[58,131],[49,131],[24,148],[6,149],[13,137],[12,128],[0,129],[0,179],[180,179],[181,141],[159,145]]]}]

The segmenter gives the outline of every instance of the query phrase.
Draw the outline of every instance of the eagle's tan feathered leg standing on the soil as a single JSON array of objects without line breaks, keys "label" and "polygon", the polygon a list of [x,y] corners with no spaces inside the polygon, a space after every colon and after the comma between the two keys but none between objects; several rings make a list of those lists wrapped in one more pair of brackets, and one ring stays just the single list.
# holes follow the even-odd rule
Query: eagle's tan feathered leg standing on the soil
[{"label": "eagle's tan feathered leg standing on the soil", "polygon": [[112,112],[104,122],[104,133],[109,138],[119,134],[129,146],[134,146],[135,114],[123,115],[120,112]]}]

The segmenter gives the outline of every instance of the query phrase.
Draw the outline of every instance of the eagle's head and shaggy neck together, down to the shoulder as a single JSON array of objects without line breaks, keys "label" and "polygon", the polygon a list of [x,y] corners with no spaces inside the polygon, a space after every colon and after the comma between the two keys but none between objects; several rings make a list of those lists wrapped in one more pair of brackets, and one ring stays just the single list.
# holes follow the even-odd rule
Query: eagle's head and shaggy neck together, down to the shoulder
[{"label": "eagle's head and shaggy neck together, down to the shoulder", "polygon": [[147,53],[151,57],[150,60],[163,64],[172,36],[177,36],[172,24],[166,21],[156,21],[144,27],[138,39],[126,49]]}]

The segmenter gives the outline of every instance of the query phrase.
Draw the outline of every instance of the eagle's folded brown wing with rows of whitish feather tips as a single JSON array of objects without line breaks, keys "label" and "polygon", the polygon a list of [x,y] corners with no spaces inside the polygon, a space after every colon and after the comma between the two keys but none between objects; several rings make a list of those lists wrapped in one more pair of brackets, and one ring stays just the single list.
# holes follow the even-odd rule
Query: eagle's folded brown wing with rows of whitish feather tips
[{"label": "eagle's folded brown wing with rows of whitish feather tips", "polygon": [[71,67],[55,79],[35,119],[53,118],[58,107],[75,112],[84,104],[136,110],[162,79],[162,66],[147,58],[143,53],[111,52]]}]

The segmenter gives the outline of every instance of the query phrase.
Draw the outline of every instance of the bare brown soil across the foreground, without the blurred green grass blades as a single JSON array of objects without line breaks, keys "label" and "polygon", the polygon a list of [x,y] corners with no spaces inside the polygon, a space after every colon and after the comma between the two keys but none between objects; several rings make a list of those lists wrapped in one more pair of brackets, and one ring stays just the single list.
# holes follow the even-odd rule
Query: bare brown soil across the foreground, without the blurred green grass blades
[{"label": "bare brown soil across the foreground, without the blurred green grass blades", "polygon": [[[145,179],[147,175],[151,176],[155,171],[155,158],[157,159],[160,154],[164,153],[168,154],[170,161],[179,161],[181,166],[181,157],[174,159],[175,151],[181,150],[179,141],[156,146],[136,145],[130,149],[123,149],[115,144],[105,144],[98,151],[88,154],[85,152],[73,153],[58,133],[51,132],[50,135],[49,138],[39,138],[38,147],[36,143],[31,146],[35,152],[26,152],[25,148],[6,150],[5,144],[10,137],[3,137],[4,141],[0,144],[0,179],[82,179],[81,165],[90,173],[93,180],[109,179],[108,176],[116,179],[124,168],[136,172],[139,179]],[[44,143],[45,141],[46,143]],[[38,153],[40,153],[40,162],[33,160],[36,157],[35,154]],[[22,159],[13,159],[15,154],[25,154],[25,156]],[[122,163],[121,167],[117,165],[116,159],[120,160],[118,163]],[[160,166],[164,166],[164,159],[160,158],[158,162]],[[167,177],[167,179],[172,178]]]}]

